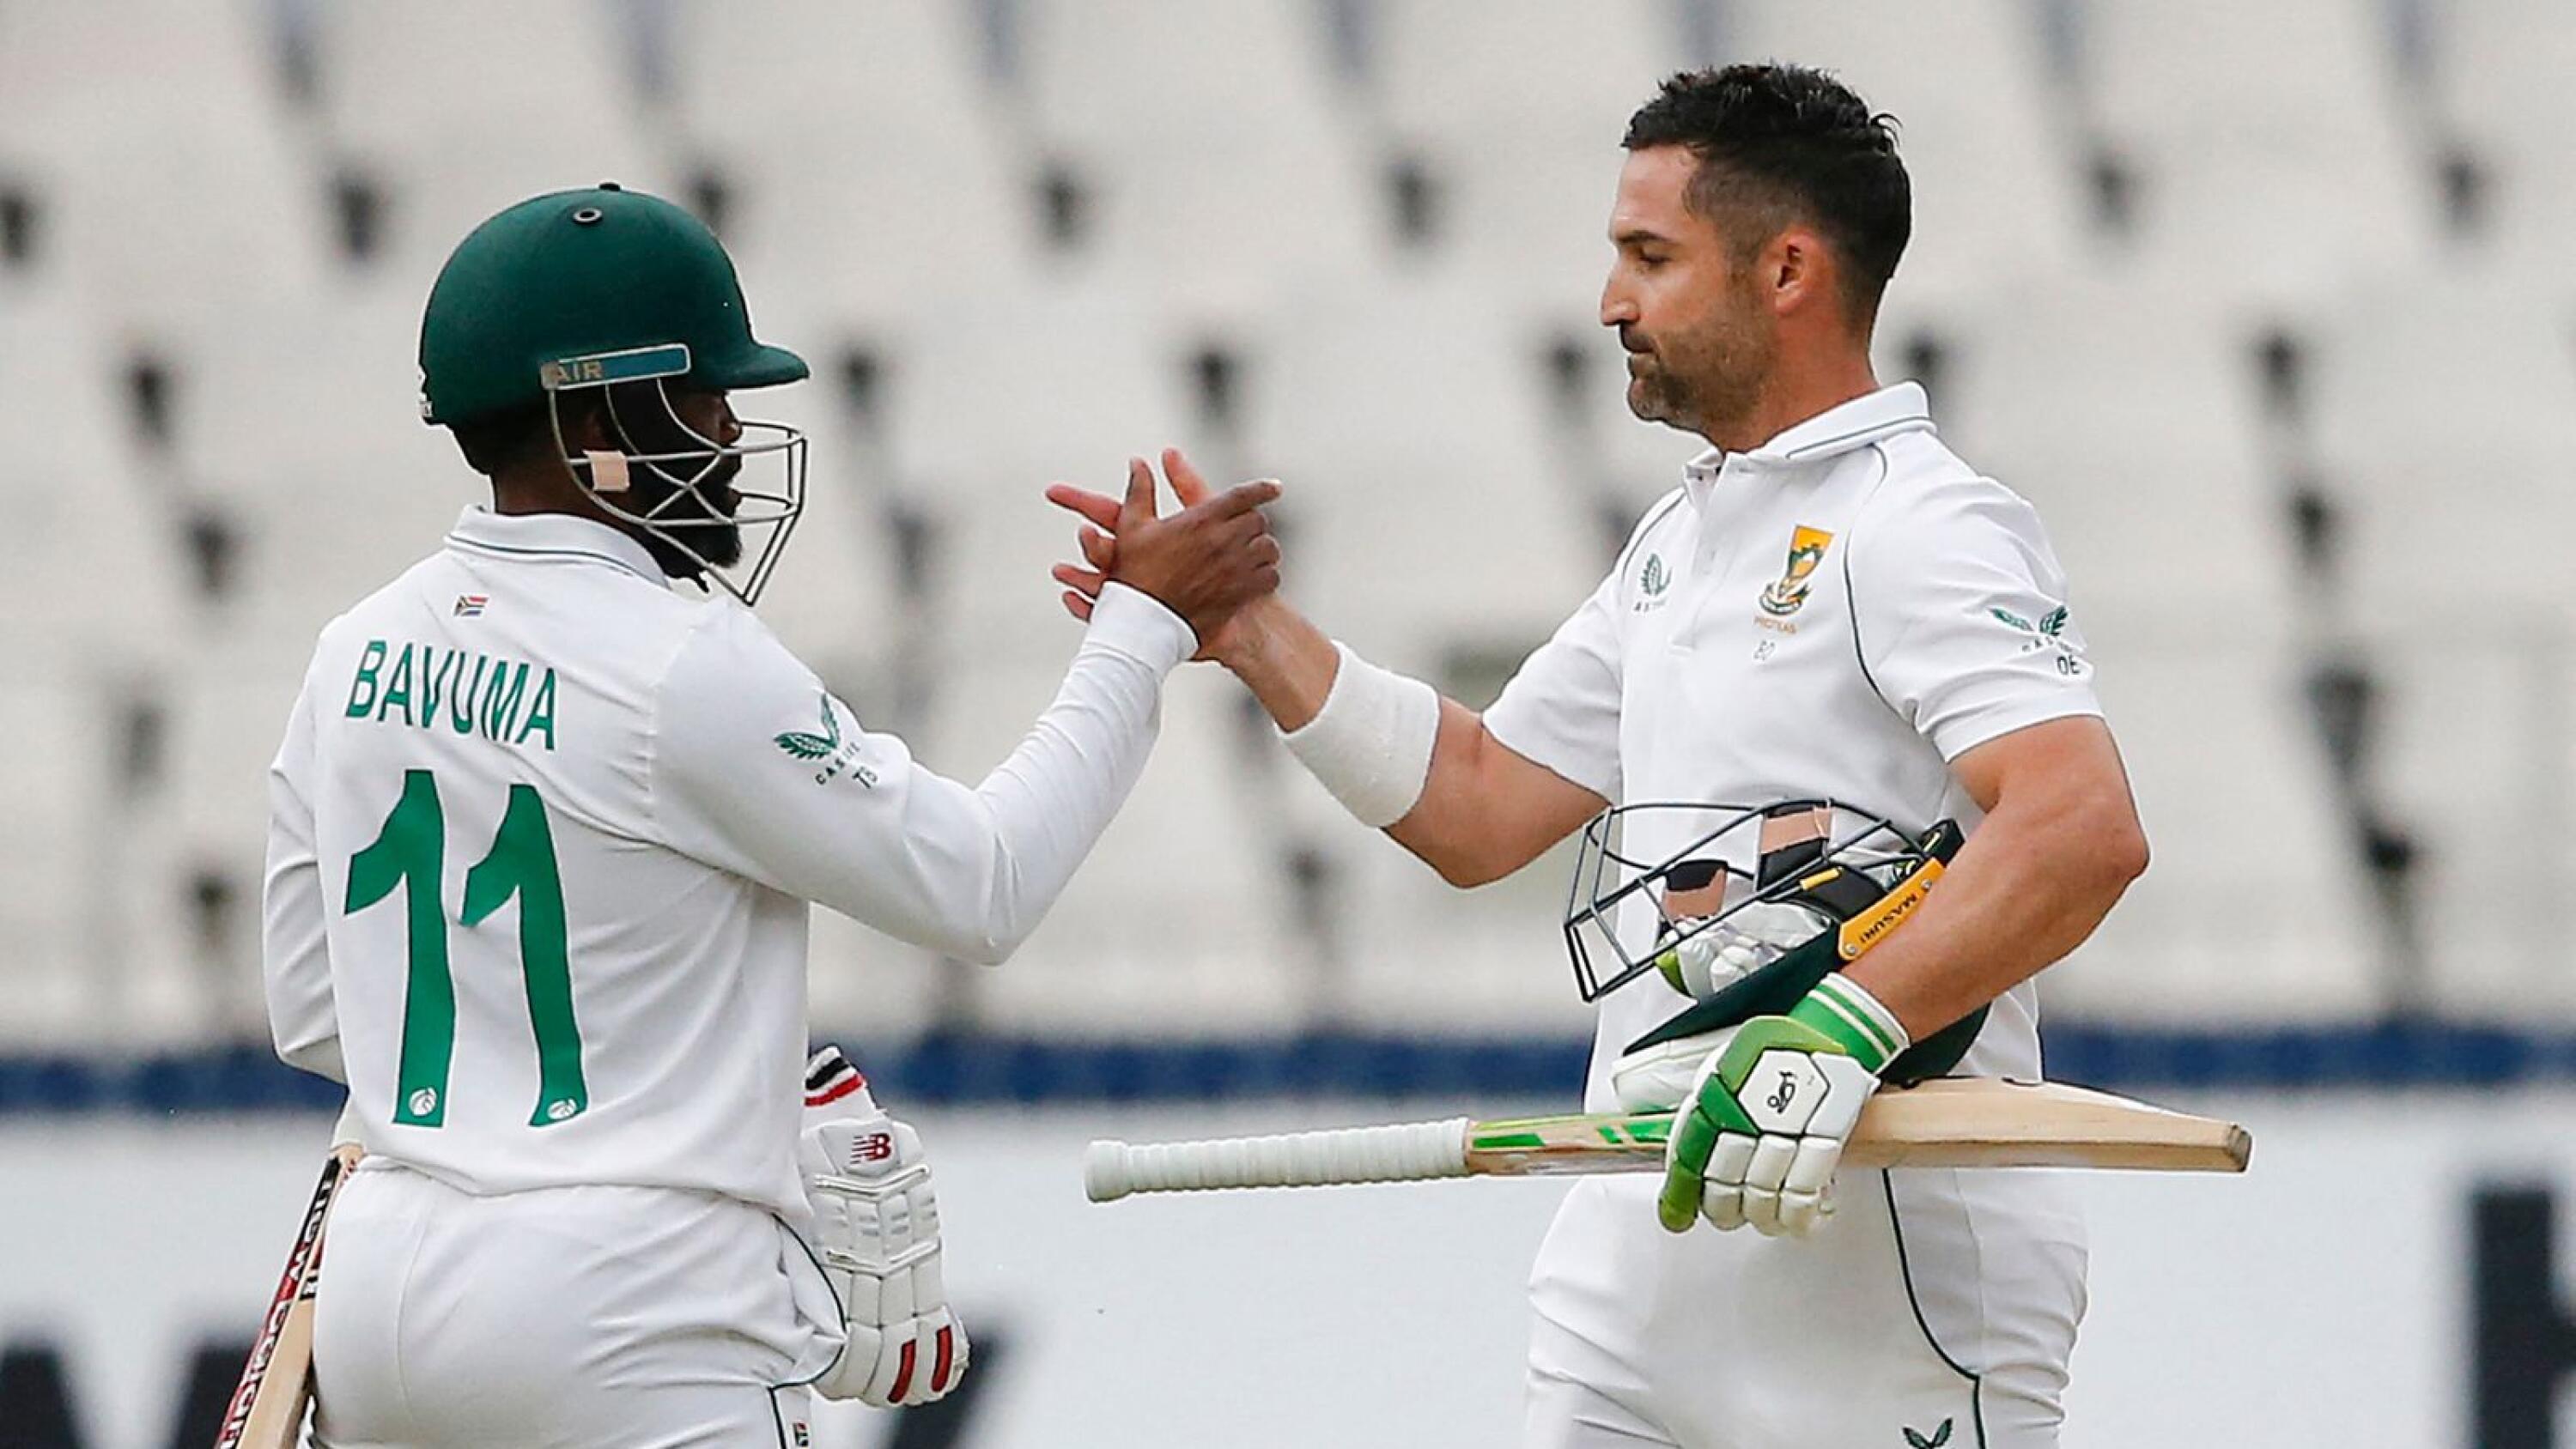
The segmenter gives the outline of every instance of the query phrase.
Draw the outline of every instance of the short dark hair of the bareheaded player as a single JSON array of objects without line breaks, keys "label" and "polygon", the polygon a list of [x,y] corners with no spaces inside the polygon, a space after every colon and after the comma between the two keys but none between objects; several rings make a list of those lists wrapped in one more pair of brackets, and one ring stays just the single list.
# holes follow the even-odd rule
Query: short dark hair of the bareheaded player
[{"label": "short dark hair of the bareheaded player", "polygon": [[1628,118],[1631,152],[1687,147],[1700,160],[1685,201],[1741,226],[1752,247],[1806,221],[1842,260],[1855,319],[1878,314],[1914,234],[1914,185],[1896,157],[1896,118],[1821,69],[1728,64],[1674,75]]}]

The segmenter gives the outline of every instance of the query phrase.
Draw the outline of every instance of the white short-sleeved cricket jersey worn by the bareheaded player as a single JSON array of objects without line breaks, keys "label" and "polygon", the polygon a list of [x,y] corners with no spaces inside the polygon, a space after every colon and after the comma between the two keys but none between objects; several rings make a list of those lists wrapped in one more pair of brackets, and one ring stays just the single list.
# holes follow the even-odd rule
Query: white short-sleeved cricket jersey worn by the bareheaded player
[{"label": "white short-sleeved cricket jersey worn by the bareheaded player", "polygon": [[[1963,752],[2099,713],[2038,512],[1896,383],[1692,461],[1484,723],[1613,803],[1826,798],[1922,831],[1981,818],[1950,775]],[[1708,818],[1631,816],[1620,854],[1662,860],[1682,829]],[[1602,999],[1589,1109],[1618,1107],[1610,1063],[1682,1004],[1654,973]],[[2040,1073],[2035,983],[1958,1071]]]}]

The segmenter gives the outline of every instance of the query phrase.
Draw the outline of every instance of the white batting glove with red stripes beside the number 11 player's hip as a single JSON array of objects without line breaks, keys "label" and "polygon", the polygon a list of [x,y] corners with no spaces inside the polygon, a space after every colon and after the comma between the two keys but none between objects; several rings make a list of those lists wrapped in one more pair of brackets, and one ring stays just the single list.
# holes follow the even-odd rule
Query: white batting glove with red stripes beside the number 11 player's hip
[{"label": "white batting glove with red stripes beside the number 11 player's hip", "polygon": [[814,1207],[814,1248],[850,1333],[814,1390],[878,1408],[943,1398],[966,1377],[966,1325],[940,1279],[930,1158],[840,1048],[806,1063],[796,1161]]}]

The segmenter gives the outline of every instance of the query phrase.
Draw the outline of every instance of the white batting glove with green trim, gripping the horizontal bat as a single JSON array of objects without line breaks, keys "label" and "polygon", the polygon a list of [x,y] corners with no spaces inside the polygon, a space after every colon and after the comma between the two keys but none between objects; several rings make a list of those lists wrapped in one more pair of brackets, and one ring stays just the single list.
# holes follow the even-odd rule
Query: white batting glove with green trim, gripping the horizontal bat
[{"label": "white batting glove with green trim, gripping the horizontal bat", "polygon": [[1911,1045],[1893,1011],[1842,973],[1788,1017],[1754,1017],[1708,1053],[1664,1143],[1656,1217],[1685,1233],[1752,1223],[1803,1238],[1834,1210],[1834,1168],[1878,1091],[1878,1073]]}]

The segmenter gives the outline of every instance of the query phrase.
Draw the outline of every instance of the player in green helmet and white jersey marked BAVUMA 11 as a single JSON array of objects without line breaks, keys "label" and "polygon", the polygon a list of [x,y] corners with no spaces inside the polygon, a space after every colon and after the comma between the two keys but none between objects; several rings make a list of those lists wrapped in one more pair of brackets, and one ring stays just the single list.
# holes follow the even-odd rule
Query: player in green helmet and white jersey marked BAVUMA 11
[{"label": "player in green helmet and white jersey marked BAVUMA 11", "polygon": [[322,631],[270,772],[278,1053],[348,1084],[366,1148],[319,1441],[804,1444],[809,1392],[948,1392],[920,1138],[806,1060],[809,901],[1007,957],[1136,782],[1164,674],[1275,589],[1275,489],[1154,517],[1133,463],[1141,543],[961,785],[750,610],[806,445],[729,394],[806,365],[752,337],[703,224],[616,185],[492,216],[420,368],[492,504]]}]

